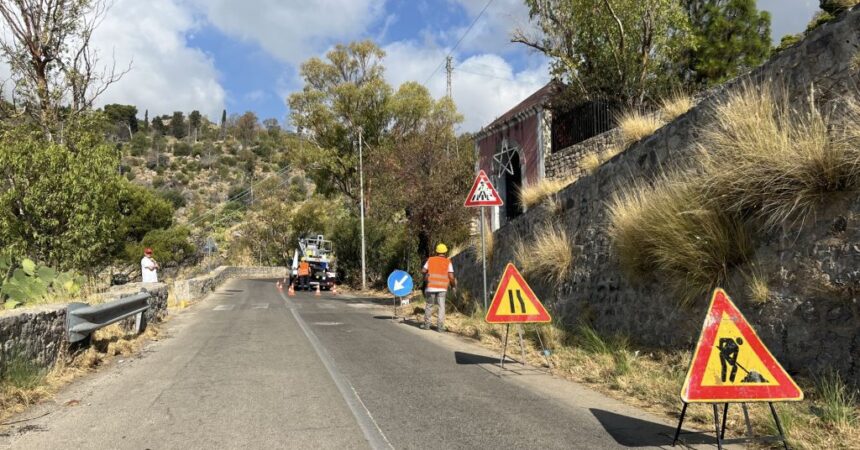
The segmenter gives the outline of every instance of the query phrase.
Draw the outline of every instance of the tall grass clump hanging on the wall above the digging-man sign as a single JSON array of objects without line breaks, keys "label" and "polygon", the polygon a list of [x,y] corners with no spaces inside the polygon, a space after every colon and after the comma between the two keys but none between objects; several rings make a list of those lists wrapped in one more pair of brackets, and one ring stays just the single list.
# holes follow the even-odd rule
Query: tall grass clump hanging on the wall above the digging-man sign
[{"label": "tall grass clump hanging on the wall above the digging-man sign", "polygon": [[640,279],[658,273],[681,304],[706,294],[752,253],[746,226],[711,208],[698,179],[688,174],[620,190],[609,216],[622,269]]}]

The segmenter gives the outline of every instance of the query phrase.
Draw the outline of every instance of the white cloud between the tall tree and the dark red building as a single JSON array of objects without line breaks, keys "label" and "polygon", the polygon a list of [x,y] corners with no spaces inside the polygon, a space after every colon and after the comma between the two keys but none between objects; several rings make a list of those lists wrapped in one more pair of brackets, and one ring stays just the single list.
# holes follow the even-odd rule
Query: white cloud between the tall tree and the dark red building
[{"label": "white cloud between the tall tree and the dark red building", "polygon": [[[393,86],[406,81],[424,82],[444,60],[447,49],[395,42],[385,47],[385,76]],[[462,131],[477,131],[549,81],[548,67],[515,72],[500,56],[482,53],[454,61],[452,94],[465,120]],[[445,94],[444,68],[426,83],[434,97]]]}]

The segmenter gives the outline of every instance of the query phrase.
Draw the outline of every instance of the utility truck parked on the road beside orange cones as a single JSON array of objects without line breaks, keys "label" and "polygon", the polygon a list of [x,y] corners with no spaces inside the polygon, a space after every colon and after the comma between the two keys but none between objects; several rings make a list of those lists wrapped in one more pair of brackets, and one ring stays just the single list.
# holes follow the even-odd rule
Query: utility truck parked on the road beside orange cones
[{"label": "utility truck parked on the road beside orange cones", "polygon": [[[306,284],[299,278],[299,265],[302,261],[310,266],[310,275]],[[327,291],[334,287],[336,281],[337,261],[332,242],[326,240],[321,234],[300,238],[298,248],[293,251],[290,283],[293,283],[297,290],[316,290],[319,287]]]}]

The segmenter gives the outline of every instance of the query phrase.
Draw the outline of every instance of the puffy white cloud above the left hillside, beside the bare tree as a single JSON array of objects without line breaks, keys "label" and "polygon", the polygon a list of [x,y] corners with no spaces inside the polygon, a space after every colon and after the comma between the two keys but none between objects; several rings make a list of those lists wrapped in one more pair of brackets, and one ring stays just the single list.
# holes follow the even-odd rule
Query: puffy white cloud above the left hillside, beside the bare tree
[{"label": "puffy white cloud above the left hillside, beside the bare tree", "polygon": [[174,0],[118,0],[93,35],[104,62],[111,56],[132,70],[111,86],[99,104],[136,105],[150,116],[198,109],[220,117],[225,93],[212,59],[186,42],[195,28],[189,10]]}]

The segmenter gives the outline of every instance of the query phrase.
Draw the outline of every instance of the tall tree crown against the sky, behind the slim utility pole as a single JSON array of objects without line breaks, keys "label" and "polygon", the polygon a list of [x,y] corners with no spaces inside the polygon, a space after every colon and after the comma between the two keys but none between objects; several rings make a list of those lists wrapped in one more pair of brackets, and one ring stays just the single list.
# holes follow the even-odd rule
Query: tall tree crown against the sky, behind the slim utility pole
[{"label": "tall tree crown against the sky, behind the slim utility pole", "polygon": [[373,159],[389,122],[391,87],[383,78],[385,52],[371,41],[339,44],[327,61],[301,66],[304,89],[290,95],[290,117],[309,145],[296,149],[298,165],[320,192],[358,200],[358,132],[365,164]]}]

